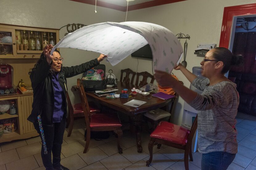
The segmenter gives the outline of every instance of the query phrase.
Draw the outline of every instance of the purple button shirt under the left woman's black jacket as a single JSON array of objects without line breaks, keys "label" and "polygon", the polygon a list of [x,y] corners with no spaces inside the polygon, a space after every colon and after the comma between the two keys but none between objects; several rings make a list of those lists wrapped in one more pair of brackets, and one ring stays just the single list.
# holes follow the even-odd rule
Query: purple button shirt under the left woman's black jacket
[{"label": "purple button shirt under the left woman's black jacket", "polygon": [[55,73],[52,74],[52,85],[54,90],[54,110],[53,110],[53,123],[60,122],[62,119],[62,116],[64,115],[64,106],[63,106],[63,98],[64,98],[64,92],[60,86],[59,79],[58,79],[59,73],[55,75]]}]

